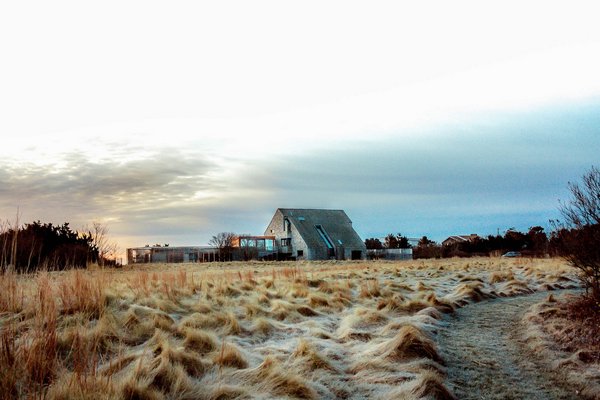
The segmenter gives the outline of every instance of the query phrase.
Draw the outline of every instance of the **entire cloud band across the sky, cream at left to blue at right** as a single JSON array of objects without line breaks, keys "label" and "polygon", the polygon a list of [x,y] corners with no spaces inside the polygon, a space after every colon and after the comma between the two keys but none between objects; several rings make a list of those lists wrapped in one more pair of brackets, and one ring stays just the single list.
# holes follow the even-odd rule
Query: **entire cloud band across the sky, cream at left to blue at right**
[{"label": "entire cloud band across the sky, cream at left to blue at right", "polygon": [[275,147],[220,155],[199,139],[140,151],[127,140],[105,143],[103,154],[114,146],[120,156],[69,151],[43,163],[5,163],[0,211],[11,216],[19,206],[25,221],[75,227],[104,220],[123,247],[262,233],[277,207],[345,209],[363,236],[525,229],[555,218],[567,181],[596,162],[597,107],[477,114],[468,124],[384,137],[311,137],[310,150],[287,144],[280,154]]}]

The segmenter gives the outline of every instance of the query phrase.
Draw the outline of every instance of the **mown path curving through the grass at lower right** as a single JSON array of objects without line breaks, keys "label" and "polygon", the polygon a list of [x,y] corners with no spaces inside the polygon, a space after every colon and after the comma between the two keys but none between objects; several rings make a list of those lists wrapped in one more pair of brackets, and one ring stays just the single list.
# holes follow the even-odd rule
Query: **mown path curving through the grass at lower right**
[{"label": "mown path curving through the grass at lower right", "polygon": [[536,364],[521,340],[523,313],[546,296],[484,301],[446,319],[438,344],[448,365],[448,387],[458,399],[577,398],[574,389],[560,386],[560,376]]}]

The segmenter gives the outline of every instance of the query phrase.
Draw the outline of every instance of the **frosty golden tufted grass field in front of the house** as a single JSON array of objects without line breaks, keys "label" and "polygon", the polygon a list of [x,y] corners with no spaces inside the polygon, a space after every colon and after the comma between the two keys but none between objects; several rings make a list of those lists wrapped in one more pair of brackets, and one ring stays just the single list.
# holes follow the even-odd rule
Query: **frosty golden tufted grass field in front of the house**
[{"label": "frosty golden tufted grass field in front of the house", "polygon": [[0,275],[0,398],[451,398],[435,332],[559,260],[145,265]]}]

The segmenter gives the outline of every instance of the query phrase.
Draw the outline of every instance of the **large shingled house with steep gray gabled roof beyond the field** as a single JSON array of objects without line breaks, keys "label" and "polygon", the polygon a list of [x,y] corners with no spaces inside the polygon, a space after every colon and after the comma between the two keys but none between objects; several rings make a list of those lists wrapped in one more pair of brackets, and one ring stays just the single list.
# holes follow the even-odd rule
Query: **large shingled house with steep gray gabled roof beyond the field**
[{"label": "large shingled house with steep gray gabled roof beyond the field", "polygon": [[367,248],[343,210],[278,208],[265,230],[297,260],[364,260]]}]

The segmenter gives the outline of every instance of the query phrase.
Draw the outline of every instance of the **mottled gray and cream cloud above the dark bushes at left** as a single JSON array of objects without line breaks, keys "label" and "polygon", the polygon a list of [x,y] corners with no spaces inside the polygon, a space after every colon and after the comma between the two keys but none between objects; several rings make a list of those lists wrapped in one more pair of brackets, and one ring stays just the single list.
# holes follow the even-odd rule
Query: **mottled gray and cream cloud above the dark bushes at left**
[{"label": "mottled gray and cream cloud above the dark bushes at left", "polygon": [[155,232],[169,224],[172,231],[185,231],[186,221],[222,187],[212,176],[218,168],[198,154],[172,148],[122,162],[93,162],[68,153],[50,166],[2,168],[0,209],[11,215],[18,206],[25,217],[74,223],[113,221],[129,234]]}]

